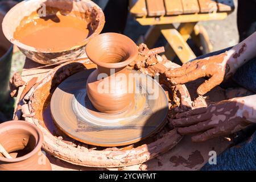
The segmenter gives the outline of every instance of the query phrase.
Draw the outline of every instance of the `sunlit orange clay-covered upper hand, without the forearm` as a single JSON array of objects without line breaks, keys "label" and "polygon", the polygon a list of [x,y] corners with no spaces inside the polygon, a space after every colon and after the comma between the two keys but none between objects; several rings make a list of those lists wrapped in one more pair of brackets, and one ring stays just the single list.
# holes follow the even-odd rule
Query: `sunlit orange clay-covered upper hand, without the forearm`
[{"label": "sunlit orange clay-covered upper hand, without the forearm", "polygon": [[225,60],[226,53],[207,57],[184,64],[180,68],[168,70],[165,74],[174,85],[185,84],[201,77],[209,77],[197,89],[197,94],[204,95],[215,86],[221,84],[229,71]]}]

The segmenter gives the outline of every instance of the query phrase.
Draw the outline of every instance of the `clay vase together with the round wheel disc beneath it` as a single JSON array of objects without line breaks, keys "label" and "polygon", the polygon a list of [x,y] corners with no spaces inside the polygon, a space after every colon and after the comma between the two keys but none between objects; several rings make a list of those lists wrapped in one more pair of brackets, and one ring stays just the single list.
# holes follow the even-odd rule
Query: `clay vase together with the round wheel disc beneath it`
[{"label": "clay vase together with the round wheel disc beneath it", "polygon": [[139,142],[166,124],[163,88],[127,67],[139,56],[131,39],[101,34],[87,44],[86,53],[97,69],[68,77],[51,97],[51,115],[61,131],[82,143],[116,147]]}]

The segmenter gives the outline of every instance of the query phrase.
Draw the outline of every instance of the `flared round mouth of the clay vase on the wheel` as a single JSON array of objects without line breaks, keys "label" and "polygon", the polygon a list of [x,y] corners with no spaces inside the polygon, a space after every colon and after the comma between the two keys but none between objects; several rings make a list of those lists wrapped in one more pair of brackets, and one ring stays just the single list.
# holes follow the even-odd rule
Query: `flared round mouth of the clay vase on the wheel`
[{"label": "flared round mouth of the clay vase on the wheel", "polygon": [[[120,61],[118,63],[104,63],[99,57],[99,52],[96,54],[95,49],[97,48],[97,51],[105,52],[105,49],[98,48],[98,45],[105,44],[102,46],[103,48],[106,48],[107,46],[115,47],[115,49],[120,49],[122,47],[129,48],[129,55],[125,55],[129,57],[129,59],[126,59],[125,61]],[[125,44],[125,46],[123,46]],[[122,50],[124,51],[124,50]],[[93,63],[104,67],[104,68],[124,68],[127,65],[129,65],[132,61],[134,61],[138,56],[138,48],[137,45],[131,40],[129,37],[117,34],[117,33],[104,33],[97,35],[95,38],[90,40],[90,42],[85,47],[86,55],[89,57],[90,60],[93,61]]]}]

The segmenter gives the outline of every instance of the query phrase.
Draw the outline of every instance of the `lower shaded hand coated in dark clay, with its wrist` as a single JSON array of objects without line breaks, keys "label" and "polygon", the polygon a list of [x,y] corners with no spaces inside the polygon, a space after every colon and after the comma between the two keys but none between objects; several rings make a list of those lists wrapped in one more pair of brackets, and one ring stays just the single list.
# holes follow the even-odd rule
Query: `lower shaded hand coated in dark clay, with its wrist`
[{"label": "lower shaded hand coated in dark clay, with its wrist", "polygon": [[[233,98],[176,115],[172,120],[182,135],[197,134],[193,142],[225,136],[256,122],[256,95]],[[203,132],[203,133],[202,133]]]}]

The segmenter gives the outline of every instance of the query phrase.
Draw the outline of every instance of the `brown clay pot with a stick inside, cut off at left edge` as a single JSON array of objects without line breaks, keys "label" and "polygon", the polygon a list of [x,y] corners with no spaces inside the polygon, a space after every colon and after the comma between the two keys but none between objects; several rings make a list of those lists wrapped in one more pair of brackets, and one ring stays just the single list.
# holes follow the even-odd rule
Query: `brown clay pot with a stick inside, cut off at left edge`
[{"label": "brown clay pot with a stick inside, cut off at left edge", "polygon": [[9,121],[0,125],[0,144],[13,157],[0,153],[0,171],[51,171],[51,164],[42,153],[42,131],[25,121]]}]

